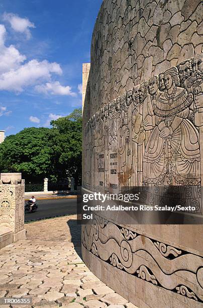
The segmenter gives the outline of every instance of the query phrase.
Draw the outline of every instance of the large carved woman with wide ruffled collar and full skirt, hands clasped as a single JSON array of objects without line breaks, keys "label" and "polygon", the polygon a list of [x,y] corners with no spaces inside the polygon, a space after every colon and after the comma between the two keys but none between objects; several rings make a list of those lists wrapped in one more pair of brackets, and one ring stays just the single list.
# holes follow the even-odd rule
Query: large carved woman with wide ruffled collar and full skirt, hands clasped
[{"label": "large carved woman with wide ruffled collar and full skirt, hands clasped", "polygon": [[144,153],[144,183],[197,185],[200,181],[199,136],[187,119],[192,94],[180,88],[176,67],[164,73],[165,90],[153,105],[156,125]]}]

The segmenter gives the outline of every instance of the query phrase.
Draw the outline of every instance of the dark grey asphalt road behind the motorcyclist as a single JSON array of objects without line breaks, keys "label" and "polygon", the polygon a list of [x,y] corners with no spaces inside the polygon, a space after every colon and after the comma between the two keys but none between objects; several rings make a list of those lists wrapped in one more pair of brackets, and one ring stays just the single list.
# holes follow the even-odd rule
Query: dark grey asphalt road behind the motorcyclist
[{"label": "dark grey asphalt road behind the motorcyclist", "polygon": [[37,204],[36,212],[25,213],[25,222],[77,212],[77,199],[37,200]]}]

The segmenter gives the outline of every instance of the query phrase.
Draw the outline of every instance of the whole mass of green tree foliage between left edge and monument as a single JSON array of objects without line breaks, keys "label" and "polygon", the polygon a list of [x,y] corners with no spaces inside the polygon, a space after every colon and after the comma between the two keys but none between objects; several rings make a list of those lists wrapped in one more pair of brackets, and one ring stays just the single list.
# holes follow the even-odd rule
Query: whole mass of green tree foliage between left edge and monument
[{"label": "whole mass of green tree foliage between left edge and monument", "polygon": [[51,121],[52,128],[25,128],[0,144],[1,172],[22,172],[30,182],[75,177],[81,183],[82,114]]}]

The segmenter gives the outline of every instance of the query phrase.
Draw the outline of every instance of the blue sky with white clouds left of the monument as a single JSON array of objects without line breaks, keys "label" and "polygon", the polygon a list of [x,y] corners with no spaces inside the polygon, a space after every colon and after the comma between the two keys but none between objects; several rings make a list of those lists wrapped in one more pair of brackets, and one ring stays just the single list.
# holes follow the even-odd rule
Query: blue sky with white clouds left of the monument
[{"label": "blue sky with white clouds left of the monument", "polygon": [[82,63],[90,62],[102,0],[2,0],[0,130],[15,134],[81,106]]}]

